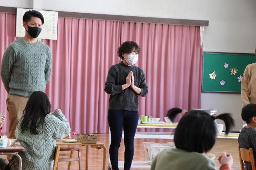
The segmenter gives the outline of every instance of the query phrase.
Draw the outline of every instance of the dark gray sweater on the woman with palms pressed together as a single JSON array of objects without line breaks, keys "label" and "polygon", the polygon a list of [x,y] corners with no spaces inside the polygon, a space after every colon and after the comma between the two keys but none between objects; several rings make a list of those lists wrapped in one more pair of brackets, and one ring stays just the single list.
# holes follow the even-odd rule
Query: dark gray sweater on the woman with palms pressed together
[{"label": "dark gray sweater on the woman with palms pressed together", "polygon": [[105,82],[105,92],[111,94],[109,109],[139,111],[138,95],[131,87],[122,89],[122,85],[126,83],[125,78],[130,71],[133,71],[134,85],[141,89],[140,95],[146,96],[146,76],[140,67],[128,66],[123,62],[112,65]]}]

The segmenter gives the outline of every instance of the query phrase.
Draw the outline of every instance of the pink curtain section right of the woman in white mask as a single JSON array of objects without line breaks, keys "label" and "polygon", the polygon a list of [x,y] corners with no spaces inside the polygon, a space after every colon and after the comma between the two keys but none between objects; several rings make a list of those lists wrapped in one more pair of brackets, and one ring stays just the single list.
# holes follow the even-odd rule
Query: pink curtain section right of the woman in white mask
[{"label": "pink curtain section right of the woman in white mask", "polygon": [[139,101],[141,115],[164,120],[170,108],[201,107],[199,27],[123,22],[121,40],[136,41],[141,47],[137,65],[148,83],[148,95]]}]

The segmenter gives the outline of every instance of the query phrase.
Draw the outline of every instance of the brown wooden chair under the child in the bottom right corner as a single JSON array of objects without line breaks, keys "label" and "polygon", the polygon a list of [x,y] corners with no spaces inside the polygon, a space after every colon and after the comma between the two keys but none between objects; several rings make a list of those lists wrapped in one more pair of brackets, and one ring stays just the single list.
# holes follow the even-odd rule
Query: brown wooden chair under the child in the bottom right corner
[{"label": "brown wooden chair under the child in the bottom right corner", "polygon": [[241,169],[245,170],[244,161],[247,161],[251,163],[252,170],[256,170],[252,148],[247,150],[247,149],[238,147],[238,152],[239,152]]}]

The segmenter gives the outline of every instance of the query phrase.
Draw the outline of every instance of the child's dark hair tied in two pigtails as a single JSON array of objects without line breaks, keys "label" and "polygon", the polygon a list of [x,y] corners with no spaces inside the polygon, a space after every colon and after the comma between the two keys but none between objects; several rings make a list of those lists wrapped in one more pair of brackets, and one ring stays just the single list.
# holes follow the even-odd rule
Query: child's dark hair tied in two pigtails
[{"label": "child's dark hair tied in two pigtails", "polygon": [[[168,117],[172,122],[181,109],[173,108],[168,111]],[[229,113],[211,116],[202,110],[190,110],[184,114],[174,133],[176,148],[188,152],[204,153],[214,147],[216,141],[215,119],[222,119],[226,126],[226,134],[234,126],[234,120]]]}]

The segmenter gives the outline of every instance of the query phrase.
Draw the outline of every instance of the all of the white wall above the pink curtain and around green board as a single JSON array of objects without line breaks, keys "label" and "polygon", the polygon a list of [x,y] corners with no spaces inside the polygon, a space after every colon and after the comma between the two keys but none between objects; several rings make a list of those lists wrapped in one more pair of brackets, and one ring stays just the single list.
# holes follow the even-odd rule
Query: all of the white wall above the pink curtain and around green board
[{"label": "all of the white wall above the pink curtain and around green board", "polygon": [[[0,6],[33,7],[38,0],[0,1]],[[254,53],[256,46],[255,0],[40,0],[44,10],[83,13],[209,20],[204,32],[204,51]],[[241,95],[202,93],[202,108],[232,112],[240,118]]]}]

